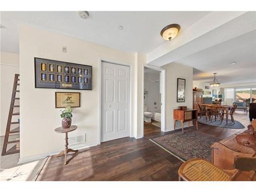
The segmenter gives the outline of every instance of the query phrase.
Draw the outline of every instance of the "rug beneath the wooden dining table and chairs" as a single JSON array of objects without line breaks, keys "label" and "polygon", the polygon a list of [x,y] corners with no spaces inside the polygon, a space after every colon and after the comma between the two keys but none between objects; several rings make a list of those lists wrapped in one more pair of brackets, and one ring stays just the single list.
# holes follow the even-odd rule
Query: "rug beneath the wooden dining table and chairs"
[{"label": "rug beneath the wooden dining table and chairs", "polygon": [[244,125],[242,125],[242,123],[240,123],[239,121],[234,120],[234,123],[229,120],[226,123],[226,120],[223,119],[222,123],[220,122],[219,119],[212,119],[212,122],[210,122],[210,120],[207,118],[207,120],[205,119],[205,116],[202,116],[201,119],[198,118],[198,122],[203,123],[203,124],[208,124],[208,125],[212,125],[212,126],[219,126],[219,127],[223,127],[223,128],[227,128],[227,129],[244,129]]}]

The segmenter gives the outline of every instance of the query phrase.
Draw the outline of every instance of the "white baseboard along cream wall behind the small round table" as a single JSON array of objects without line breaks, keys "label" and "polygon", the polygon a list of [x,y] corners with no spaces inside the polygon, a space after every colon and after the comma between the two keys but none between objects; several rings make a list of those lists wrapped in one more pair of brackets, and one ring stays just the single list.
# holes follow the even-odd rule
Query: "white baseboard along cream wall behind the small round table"
[{"label": "white baseboard along cream wall behind the small round table", "polygon": [[[90,143],[90,144],[84,144],[84,143],[81,144],[80,143],[80,144],[70,145],[70,148],[72,148],[73,150],[81,150],[83,148],[88,148],[88,147],[92,147],[92,146],[96,146],[96,145],[98,145],[98,142],[94,142],[94,143]],[[18,164],[26,163],[26,162],[29,162],[29,161],[35,161],[35,160],[39,160],[39,159],[44,159],[48,156],[56,155],[56,154],[60,153],[61,151],[62,150],[58,150],[58,151],[55,151],[55,152],[50,152],[50,153],[45,153],[45,154],[39,154],[39,155],[19,158]]]}]

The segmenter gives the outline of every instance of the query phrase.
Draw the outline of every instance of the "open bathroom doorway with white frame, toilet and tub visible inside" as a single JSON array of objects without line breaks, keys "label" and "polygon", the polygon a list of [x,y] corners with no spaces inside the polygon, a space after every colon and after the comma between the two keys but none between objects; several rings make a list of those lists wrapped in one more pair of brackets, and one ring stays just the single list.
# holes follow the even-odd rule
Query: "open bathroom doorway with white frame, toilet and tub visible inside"
[{"label": "open bathroom doorway with white frame, toilet and tub visible inside", "polygon": [[165,70],[144,66],[143,134],[165,131]]}]

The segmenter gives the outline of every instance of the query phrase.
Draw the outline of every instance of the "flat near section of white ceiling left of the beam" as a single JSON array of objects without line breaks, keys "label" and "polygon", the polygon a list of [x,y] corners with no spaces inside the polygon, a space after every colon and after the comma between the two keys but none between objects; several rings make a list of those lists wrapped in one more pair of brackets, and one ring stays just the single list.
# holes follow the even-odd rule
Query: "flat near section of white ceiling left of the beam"
[{"label": "flat near section of white ceiling left of the beam", "polygon": [[18,25],[27,24],[123,51],[148,53],[165,42],[160,36],[163,27],[178,23],[182,31],[208,13],[89,11],[89,18],[82,19],[76,11],[2,11],[1,51],[18,53]]}]

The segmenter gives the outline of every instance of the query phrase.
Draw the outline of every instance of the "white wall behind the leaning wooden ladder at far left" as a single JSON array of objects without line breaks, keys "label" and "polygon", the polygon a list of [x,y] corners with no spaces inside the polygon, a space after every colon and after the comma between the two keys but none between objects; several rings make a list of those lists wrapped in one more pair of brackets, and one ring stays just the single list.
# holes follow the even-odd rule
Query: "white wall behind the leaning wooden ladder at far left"
[{"label": "white wall behind the leaning wooden ladder at far left", "polygon": [[[0,136],[4,136],[6,131],[6,124],[8,120],[9,109],[10,109],[14,75],[19,73],[19,55],[14,53],[7,53],[7,52],[1,52],[0,54],[1,54],[0,55],[1,57]],[[18,100],[16,100],[16,102],[18,104]],[[18,109],[15,109],[15,110],[18,110]],[[15,110],[14,112],[16,112]],[[17,118],[17,116],[14,118]]]}]

